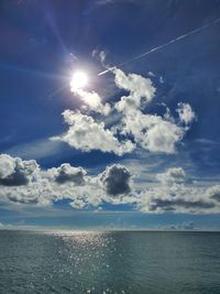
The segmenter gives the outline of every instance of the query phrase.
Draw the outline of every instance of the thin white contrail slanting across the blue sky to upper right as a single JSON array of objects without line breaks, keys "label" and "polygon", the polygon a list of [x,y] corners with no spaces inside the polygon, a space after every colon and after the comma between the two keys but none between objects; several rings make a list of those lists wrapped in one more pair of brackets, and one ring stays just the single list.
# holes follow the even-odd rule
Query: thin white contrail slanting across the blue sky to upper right
[{"label": "thin white contrail slanting across the blue sky to upper right", "polygon": [[[162,44],[162,45],[158,45],[158,46],[156,46],[156,47],[154,47],[154,48],[151,48],[150,51],[146,51],[146,52],[144,52],[144,53],[142,53],[142,54],[140,54],[140,55],[138,55],[138,56],[135,56],[135,57],[133,57],[133,58],[127,61],[127,62],[120,63],[120,64],[117,65],[117,67],[120,67],[120,66],[122,66],[122,65],[130,64],[130,63],[132,63],[132,62],[134,62],[134,61],[136,61],[136,59],[140,59],[140,58],[142,58],[142,57],[144,57],[144,56],[146,56],[146,55],[148,55],[148,54],[155,52],[155,51],[162,50],[162,48],[164,48],[164,47],[166,47],[166,46],[168,46],[168,45],[170,45],[170,44],[174,44],[174,43],[176,43],[176,42],[178,42],[178,41],[180,41],[180,40],[183,40],[183,39],[185,39],[185,37],[187,37],[187,36],[189,36],[189,35],[199,33],[200,31],[202,31],[202,30],[205,30],[205,29],[207,29],[207,28],[209,28],[209,26],[211,26],[212,24],[216,24],[216,23],[218,23],[218,22],[220,22],[220,18],[219,18],[219,19],[216,19],[216,20],[213,20],[212,22],[209,22],[209,23],[207,23],[207,24],[205,24],[205,25],[202,25],[202,26],[200,26],[200,28],[197,28],[197,29],[195,29],[195,30],[193,30],[193,31],[190,31],[190,32],[188,32],[188,33],[186,33],[186,34],[183,34],[183,35],[180,35],[180,36],[177,36],[177,37],[173,39],[172,41],[169,41],[169,42],[167,42],[167,43],[165,43],[165,44]],[[114,68],[114,66],[113,66],[113,67],[109,67],[108,69],[106,69],[106,70],[99,73],[98,76],[102,76],[102,75],[109,73],[110,70],[112,70],[113,68]]]}]

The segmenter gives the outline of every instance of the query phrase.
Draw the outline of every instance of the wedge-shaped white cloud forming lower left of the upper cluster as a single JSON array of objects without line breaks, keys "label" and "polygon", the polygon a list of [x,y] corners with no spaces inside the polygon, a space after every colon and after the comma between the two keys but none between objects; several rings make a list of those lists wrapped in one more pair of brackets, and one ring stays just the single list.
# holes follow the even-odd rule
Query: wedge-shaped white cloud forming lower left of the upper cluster
[{"label": "wedge-shaped white cloud forming lower left of the upper cluster", "polygon": [[65,122],[69,124],[69,129],[67,133],[52,138],[52,140],[64,141],[85,152],[100,150],[122,155],[134,149],[134,144],[130,140],[119,142],[111,130],[105,129],[103,122],[98,123],[90,116],[72,110],[65,110],[63,116]]}]

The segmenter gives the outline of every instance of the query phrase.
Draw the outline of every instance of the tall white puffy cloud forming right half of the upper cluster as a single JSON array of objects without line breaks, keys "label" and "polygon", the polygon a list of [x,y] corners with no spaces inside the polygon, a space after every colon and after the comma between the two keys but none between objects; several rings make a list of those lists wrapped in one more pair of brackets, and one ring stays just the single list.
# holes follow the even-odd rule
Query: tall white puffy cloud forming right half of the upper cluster
[{"label": "tall white puffy cloud forming right half of the upper cluster", "polygon": [[[175,123],[170,112],[168,116],[147,115],[142,111],[143,98],[146,104],[152,101],[156,89],[150,78],[113,69],[116,85],[128,90],[128,96],[121,97],[114,108],[122,113],[118,130],[123,134],[132,134],[134,141],[143,149],[154,153],[172,154],[176,152],[176,144],[180,142],[187,129]],[[182,110],[180,110],[182,109]],[[189,123],[194,113],[189,105],[179,105],[182,122]],[[193,116],[193,115],[191,115]]]}]

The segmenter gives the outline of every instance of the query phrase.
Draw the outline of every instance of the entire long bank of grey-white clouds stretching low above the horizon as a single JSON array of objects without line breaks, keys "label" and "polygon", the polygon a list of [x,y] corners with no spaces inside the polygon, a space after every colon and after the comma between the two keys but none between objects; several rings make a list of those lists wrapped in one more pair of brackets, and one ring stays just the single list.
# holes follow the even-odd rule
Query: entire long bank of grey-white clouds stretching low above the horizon
[{"label": "entire long bank of grey-white clouds stretching low above the horizon", "polygon": [[22,179],[22,184],[20,181],[13,181],[10,185],[1,183],[0,203],[4,206],[53,206],[56,202],[68,199],[74,209],[97,209],[103,203],[110,203],[130,205],[133,209],[151,214],[220,211],[220,185],[202,187],[189,184],[191,182],[186,181],[187,175],[182,167],[158,173],[145,189],[135,189],[135,181],[139,182],[139,178],[121,164],[113,164],[101,173],[88,175],[82,167],[67,163],[41,170],[35,161],[26,162],[1,154],[1,181],[12,181],[14,173],[23,173],[25,181]]}]

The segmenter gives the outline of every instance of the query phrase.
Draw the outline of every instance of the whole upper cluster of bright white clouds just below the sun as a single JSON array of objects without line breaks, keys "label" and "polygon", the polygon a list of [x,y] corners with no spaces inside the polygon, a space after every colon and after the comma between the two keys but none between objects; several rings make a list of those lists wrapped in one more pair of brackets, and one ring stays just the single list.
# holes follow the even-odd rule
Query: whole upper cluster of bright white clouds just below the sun
[{"label": "whole upper cluster of bright white clouds just below the sun", "polygon": [[[105,58],[105,53],[101,54]],[[136,146],[152,153],[172,154],[183,140],[195,112],[188,104],[178,104],[179,120],[176,122],[167,108],[165,116],[146,112],[148,104],[155,97],[156,88],[150,78],[138,74],[125,74],[117,67],[108,69],[114,75],[114,84],[124,92],[118,101],[103,105],[100,96],[84,89],[74,89],[85,101],[91,115],[66,110],[63,116],[69,124],[68,131],[55,137],[70,146],[91,151],[113,152],[118,155],[131,153]],[[105,115],[102,121],[97,120],[97,113]],[[110,115],[117,120],[108,124]],[[107,122],[105,124],[105,121]],[[187,124],[187,127],[186,127]],[[123,138],[123,141],[121,141]],[[132,139],[132,141],[131,141]]]}]

